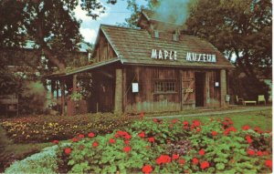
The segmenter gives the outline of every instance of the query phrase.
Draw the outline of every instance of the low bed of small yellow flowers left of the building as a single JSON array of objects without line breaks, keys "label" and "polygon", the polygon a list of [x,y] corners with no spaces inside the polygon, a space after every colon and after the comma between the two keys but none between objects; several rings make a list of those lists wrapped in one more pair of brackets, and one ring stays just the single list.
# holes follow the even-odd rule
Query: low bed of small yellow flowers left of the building
[{"label": "low bed of small yellow flowers left of the building", "polygon": [[73,117],[36,116],[4,119],[0,126],[15,142],[29,143],[68,139],[89,131],[104,134],[126,127],[132,120],[131,117],[110,113]]}]

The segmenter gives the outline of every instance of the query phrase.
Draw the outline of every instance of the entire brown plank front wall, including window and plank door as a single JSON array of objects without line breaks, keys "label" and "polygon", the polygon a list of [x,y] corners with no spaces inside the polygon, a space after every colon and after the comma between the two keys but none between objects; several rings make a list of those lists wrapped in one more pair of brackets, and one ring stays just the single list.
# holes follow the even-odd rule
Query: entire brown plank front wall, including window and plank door
[{"label": "entire brown plank front wall, including window and plank door", "polygon": [[[124,67],[124,112],[179,111],[198,107],[195,76],[199,75],[204,75],[203,107],[220,107],[220,87],[215,87],[220,81],[219,70]],[[138,93],[132,93],[132,83],[139,84]]]}]

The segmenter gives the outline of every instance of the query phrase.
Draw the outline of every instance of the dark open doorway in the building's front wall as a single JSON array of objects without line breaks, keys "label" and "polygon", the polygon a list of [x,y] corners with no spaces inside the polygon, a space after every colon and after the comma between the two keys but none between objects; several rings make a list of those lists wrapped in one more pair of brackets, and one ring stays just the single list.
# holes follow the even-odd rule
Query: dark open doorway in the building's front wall
[{"label": "dark open doorway in the building's front wall", "polygon": [[205,107],[205,73],[195,73],[195,107]]}]

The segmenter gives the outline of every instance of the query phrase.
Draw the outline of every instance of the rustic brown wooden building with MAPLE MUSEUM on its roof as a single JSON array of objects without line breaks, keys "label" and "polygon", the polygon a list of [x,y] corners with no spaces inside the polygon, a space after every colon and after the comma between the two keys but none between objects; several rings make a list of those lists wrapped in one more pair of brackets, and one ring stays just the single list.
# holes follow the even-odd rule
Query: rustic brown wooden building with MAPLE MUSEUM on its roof
[{"label": "rustic brown wooden building with MAPLE MUSEUM on its roof", "polygon": [[227,107],[227,70],[234,66],[215,46],[182,35],[180,26],[150,11],[142,11],[138,25],[141,29],[101,25],[95,63],[53,77],[91,72],[92,112]]}]

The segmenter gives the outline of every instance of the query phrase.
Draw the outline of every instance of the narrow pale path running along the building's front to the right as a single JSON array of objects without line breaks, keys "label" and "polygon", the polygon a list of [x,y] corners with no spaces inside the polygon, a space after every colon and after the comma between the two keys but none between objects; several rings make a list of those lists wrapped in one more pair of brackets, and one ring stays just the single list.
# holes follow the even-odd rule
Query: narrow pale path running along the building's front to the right
[{"label": "narrow pale path running along the building's front to the right", "polygon": [[272,107],[241,107],[241,108],[235,108],[235,109],[227,109],[227,110],[221,110],[221,111],[205,111],[204,113],[195,113],[195,114],[178,114],[178,115],[172,115],[172,116],[157,116],[157,117],[148,117],[150,118],[183,118],[183,117],[199,117],[199,116],[217,116],[217,115],[223,115],[223,114],[232,114],[232,113],[240,113],[240,112],[249,112],[249,111],[259,111],[259,110],[268,110]]}]

